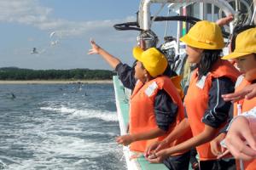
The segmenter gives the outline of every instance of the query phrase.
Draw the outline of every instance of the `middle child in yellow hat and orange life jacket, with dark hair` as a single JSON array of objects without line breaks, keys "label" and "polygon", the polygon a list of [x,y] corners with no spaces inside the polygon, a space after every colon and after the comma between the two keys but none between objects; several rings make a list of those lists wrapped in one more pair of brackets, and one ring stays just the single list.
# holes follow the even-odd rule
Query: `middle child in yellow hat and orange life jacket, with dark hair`
[{"label": "middle child in yellow hat and orange life jacket, with dark hair", "polygon": [[[221,49],[224,48],[224,39],[220,27],[215,23],[207,20],[197,22],[181,41],[187,43],[189,62],[197,65],[184,99],[188,116],[186,124],[191,128],[193,138],[161,150],[149,156],[148,160],[159,162],[170,154],[196,147],[200,168],[211,170],[218,161],[217,156],[211,152],[209,142],[226,122],[231,105],[221,98],[221,94],[233,91],[239,72],[228,61],[219,58]],[[179,131],[180,135],[182,133],[183,131]]]}]

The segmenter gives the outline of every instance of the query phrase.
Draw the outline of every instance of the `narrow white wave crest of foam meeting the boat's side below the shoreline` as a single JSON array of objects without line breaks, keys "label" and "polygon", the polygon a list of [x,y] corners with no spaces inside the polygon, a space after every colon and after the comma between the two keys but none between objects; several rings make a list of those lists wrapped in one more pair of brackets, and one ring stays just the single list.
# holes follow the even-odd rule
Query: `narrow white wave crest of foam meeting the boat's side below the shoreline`
[{"label": "narrow white wave crest of foam meeting the boat's side below the shoreline", "polygon": [[100,110],[90,110],[90,109],[78,110],[78,109],[68,108],[63,105],[61,107],[52,107],[52,106],[40,107],[40,109],[44,111],[68,113],[68,114],[71,114],[71,116],[98,118],[106,122],[118,122],[118,116],[116,115],[115,111],[100,111]]}]

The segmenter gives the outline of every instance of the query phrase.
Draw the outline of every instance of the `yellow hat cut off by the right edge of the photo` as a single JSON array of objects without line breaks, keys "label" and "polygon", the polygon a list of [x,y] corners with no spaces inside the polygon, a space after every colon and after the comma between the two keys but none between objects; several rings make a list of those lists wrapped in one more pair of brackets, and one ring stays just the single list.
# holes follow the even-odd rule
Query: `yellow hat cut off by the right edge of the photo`
[{"label": "yellow hat cut off by the right edge of the photo", "polygon": [[222,59],[236,59],[247,54],[256,54],[256,28],[251,28],[238,34],[234,52],[224,56]]}]

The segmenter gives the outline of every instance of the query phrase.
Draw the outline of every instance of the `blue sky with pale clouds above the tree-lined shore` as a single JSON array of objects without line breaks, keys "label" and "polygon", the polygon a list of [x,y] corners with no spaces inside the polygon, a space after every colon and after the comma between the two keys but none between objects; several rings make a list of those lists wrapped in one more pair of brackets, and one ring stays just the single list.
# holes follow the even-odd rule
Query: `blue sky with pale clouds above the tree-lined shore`
[{"label": "blue sky with pale clouds above the tree-lined shore", "polygon": [[[132,48],[137,44],[139,32],[116,31],[113,25],[136,21],[139,3],[139,0],[0,0],[0,67],[112,70],[99,55],[87,54],[90,38],[131,65]],[[160,30],[156,26],[156,30],[164,34],[165,28],[161,27]],[[31,54],[32,48],[37,48],[38,54]]]}]

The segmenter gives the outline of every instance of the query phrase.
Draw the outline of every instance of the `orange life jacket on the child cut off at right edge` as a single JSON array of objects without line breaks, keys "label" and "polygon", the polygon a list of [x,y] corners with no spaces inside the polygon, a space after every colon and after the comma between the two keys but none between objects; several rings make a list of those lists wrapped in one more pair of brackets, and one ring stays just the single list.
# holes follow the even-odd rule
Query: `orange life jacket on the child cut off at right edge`
[{"label": "orange life jacket on the child cut off at right edge", "polygon": [[[240,91],[242,88],[251,84],[251,82],[248,82],[246,78],[242,76],[239,77],[237,81],[239,82],[237,82],[236,84],[237,86],[236,91]],[[255,106],[256,106],[256,98],[249,99],[249,100],[241,99],[234,103],[234,116],[238,116],[245,111],[250,111]],[[253,159],[252,161],[243,161],[243,164],[246,170],[256,170],[256,159]],[[240,170],[241,169],[240,166],[241,166],[240,161],[236,160],[236,169]]]}]

